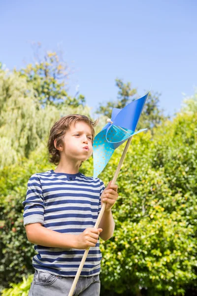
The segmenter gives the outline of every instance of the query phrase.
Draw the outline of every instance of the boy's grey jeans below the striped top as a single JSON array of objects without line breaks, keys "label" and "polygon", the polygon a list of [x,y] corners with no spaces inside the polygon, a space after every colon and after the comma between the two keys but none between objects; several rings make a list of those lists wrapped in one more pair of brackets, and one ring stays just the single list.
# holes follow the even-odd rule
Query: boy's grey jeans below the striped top
[{"label": "boy's grey jeans below the striped top", "polygon": [[[28,296],[68,296],[74,277],[57,276],[35,270]],[[73,296],[99,296],[99,274],[80,276]]]}]

